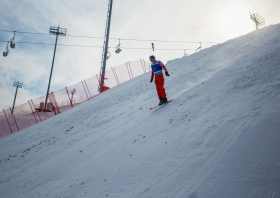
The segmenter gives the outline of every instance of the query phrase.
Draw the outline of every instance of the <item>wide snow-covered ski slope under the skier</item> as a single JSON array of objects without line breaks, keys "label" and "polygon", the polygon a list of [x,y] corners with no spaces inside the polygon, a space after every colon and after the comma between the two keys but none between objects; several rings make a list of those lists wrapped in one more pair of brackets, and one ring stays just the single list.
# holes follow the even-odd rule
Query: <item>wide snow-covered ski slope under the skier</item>
[{"label": "wide snow-covered ski slope under the skier", "polygon": [[[280,25],[0,139],[0,197],[280,197]],[[160,57],[158,57],[160,59]]]}]

